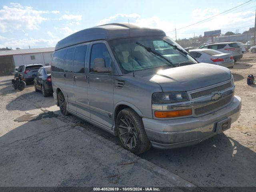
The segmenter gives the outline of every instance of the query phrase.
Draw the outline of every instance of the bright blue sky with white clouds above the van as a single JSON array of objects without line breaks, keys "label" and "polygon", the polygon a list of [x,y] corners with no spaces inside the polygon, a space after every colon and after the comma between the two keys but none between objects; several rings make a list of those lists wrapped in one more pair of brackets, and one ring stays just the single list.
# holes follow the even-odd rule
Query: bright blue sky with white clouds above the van
[{"label": "bright blue sky with white clouds above the van", "polygon": [[[39,48],[85,28],[111,22],[130,22],[171,32],[224,12],[248,0],[20,0],[0,1],[0,47]],[[214,19],[177,31],[190,38],[221,29],[243,32],[254,26],[256,0]]]}]

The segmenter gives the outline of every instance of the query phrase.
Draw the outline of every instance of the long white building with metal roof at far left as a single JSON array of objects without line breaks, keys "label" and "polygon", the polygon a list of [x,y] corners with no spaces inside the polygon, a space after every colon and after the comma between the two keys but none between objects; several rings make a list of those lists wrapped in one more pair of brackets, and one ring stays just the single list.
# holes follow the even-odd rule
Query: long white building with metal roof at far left
[{"label": "long white building with metal roof at far left", "polygon": [[25,64],[47,66],[53,52],[54,47],[0,51],[0,75],[11,74],[15,67]]}]

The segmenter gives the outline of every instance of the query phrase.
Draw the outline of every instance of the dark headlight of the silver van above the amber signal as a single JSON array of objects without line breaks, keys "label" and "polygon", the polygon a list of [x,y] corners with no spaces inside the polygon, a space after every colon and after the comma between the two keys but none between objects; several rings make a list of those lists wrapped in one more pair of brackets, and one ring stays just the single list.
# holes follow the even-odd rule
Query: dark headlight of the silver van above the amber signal
[{"label": "dark headlight of the silver van above the amber signal", "polygon": [[189,101],[186,92],[158,92],[152,96],[152,104],[168,104]]}]

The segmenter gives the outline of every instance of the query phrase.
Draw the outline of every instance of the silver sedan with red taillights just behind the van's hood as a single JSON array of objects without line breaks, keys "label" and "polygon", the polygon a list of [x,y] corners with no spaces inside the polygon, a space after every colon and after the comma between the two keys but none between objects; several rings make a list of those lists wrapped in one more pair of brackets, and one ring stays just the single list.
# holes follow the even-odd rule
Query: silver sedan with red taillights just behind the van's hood
[{"label": "silver sedan with red taillights just behind the van's hood", "polygon": [[213,49],[193,49],[189,54],[200,63],[211,63],[227,68],[233,68],[235,61],[229,53],[222,53]]}]

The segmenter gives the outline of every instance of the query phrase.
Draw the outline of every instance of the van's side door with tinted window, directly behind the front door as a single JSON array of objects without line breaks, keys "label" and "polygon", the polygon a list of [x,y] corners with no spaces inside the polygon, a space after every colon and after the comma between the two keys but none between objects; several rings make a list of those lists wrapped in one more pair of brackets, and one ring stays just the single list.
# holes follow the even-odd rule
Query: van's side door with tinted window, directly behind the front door
[{"label": "van's side door with tinted window, directly behind the front door", "polygon": [[76,97],[76,113],[90,120],[88,104],[88,87],[85,74],[85,58],[87,45],[77,46],[74,55],[74,94]]}]

